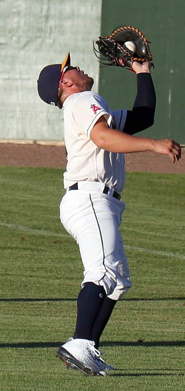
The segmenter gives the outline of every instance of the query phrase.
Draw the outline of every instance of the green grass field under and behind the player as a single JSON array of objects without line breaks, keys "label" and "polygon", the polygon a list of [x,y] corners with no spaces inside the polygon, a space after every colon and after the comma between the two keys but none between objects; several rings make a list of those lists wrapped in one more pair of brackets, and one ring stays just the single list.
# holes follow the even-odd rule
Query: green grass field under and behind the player
[{"label": "green grass field under and behind the player", "polygon": [[133,287],[102,335],[116,370],[86,377],[55,358],[74,332],[83,272],[59,221],[62,172],[0,167],[0,390],[185,390],[184,184],[184,174],[127,173],[121,231]]}]

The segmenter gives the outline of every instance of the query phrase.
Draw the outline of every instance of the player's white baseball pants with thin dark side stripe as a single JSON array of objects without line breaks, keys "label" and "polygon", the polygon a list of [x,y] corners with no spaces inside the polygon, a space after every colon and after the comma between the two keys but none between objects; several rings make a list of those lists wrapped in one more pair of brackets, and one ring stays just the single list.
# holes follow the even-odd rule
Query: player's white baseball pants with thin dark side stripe
[{"label": "player's white baseball pants with thin dark side stripe", "polygon": [[104,194],[99,182],[78,182],[60,203],[60,220],[79,245],[86,282],[102,285],[109,298],[120,300],[132,286],[119,226],[125,204]]}]

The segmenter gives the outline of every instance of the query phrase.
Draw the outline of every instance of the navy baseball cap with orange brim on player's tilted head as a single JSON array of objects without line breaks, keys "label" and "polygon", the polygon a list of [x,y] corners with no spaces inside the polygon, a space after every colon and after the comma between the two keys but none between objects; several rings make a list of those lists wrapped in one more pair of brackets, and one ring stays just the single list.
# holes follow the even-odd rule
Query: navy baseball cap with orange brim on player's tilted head
[{"label": "navy baseball cap with orange brim on player's tilted head", "polygon": [[66,65],[70,65],[70,53],[67,54],[62,64],[45,66],[37,80],[39,96],[52,106],[57,106],[58,86],[63,68]]}]

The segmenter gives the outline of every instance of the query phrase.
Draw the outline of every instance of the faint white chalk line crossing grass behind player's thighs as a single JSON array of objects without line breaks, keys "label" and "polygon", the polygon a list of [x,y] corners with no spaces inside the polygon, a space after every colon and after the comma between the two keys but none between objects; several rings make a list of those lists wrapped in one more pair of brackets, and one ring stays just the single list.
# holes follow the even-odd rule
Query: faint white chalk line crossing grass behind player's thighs
[{"label": "faint white chalk line crossing grass behind player's thighs", "polygon": [[[28,228],[28,227],[23,227],[19,226],[16,224],[9,224],[5,222],[0,222],[0,227],[6,227],[10,228],[12,230],[19,230],[19,231],[28,231],[28,232],[33,232],[37,233],[39,235],[46,235],[46,236],[55,236],[55,237],[69,237],[69,234],[67,233],[55,233],[55,232],[49,232],[49,231],[44,231],[44,230],[37,230],[36,228]],[[136,251],[141,251],[143,253],[148,253],[148,254],[156,254],[156,255],[161,255],[161,256],[168,256],[170,258],[178,258],[178,259],[183,259],[185,260],[185,256],[181,255],[179,253],[173,253],[171,251],[158,251],[158,250],[151,250],[147,248],[141,248],[137,246],[129,246],[129,245],[124,245],[125,249],[127,250],[136,250]]]}]

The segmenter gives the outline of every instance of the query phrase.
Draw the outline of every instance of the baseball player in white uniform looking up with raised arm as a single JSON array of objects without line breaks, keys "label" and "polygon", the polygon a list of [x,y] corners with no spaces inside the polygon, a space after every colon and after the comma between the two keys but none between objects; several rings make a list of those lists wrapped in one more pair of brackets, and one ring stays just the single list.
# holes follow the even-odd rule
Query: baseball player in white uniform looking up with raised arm
[{"label": "baseball player in white uniform looking up with raised arm", "polygon": [[[67,167],[60,219],[79,245],[84,278],[77,299],[74,337],[57,350],[67,368],[86,375],[106,375],[107,365],[98,350],[116,301],[131,287],[129,266],[119,226],[125,204],[124,153],[153,151],[180,159],[180,145],[173,140],[152,140],[133,134],[152,126],[155,90],[150,62],[134,61],[137,94],[133,109],[109,108],[92,92],[93,79],[70,65],[46,66],[39,75],[42,100],[63,109]],[[114,85],[113,85],[114,88]]]}]

